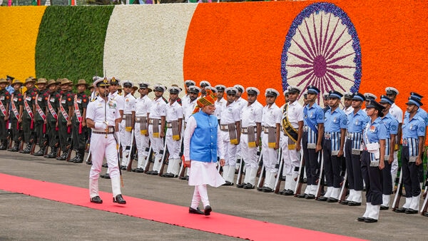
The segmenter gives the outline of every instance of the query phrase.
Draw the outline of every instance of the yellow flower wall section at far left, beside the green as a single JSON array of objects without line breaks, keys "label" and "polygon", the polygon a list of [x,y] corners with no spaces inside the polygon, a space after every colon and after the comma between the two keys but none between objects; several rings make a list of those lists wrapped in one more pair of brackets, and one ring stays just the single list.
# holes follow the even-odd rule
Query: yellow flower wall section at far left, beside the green
[{"label": "yellow flower wall section at far left, beside the green", "polygon": [[2,7],[0,76],[21,81],[36,75],[36,41],[46,6]]}]

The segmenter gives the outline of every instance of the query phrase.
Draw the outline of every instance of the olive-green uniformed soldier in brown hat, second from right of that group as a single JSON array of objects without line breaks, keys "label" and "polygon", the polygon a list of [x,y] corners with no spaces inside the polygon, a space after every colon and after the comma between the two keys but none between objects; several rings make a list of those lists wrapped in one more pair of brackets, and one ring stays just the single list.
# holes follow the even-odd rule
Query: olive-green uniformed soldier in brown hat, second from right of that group
[{"label": "olive-green uniformed soldier in brown hat, second from right of that group", "polygon": [[70,147],[71,138],[71,117],[73,116],[73,92],[69,91],[73,82],[68,78],[61,80],[61,98],[58,108],[58,130],[59,130],[59,145],[61,146],[62,155],[56,160],[66,160],[68,149]]}]

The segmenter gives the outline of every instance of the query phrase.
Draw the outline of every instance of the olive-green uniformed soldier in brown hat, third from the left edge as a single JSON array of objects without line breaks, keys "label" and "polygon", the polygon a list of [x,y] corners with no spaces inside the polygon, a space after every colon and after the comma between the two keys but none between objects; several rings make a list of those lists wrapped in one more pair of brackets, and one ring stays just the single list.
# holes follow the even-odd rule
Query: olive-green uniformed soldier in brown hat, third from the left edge
[{"label": "olive-green uniformed soldier in brown hat, third from the left edge", "polygon": [[24,132],[24,143],[26,147],[20,153],[28,154],[31,150],[31,143],[34,141],[34,101],[36,100],[37,88],[34,87],[36,81],[33,78],[26,78],[24,86],[24,110],[22,111],[22,131]]}]

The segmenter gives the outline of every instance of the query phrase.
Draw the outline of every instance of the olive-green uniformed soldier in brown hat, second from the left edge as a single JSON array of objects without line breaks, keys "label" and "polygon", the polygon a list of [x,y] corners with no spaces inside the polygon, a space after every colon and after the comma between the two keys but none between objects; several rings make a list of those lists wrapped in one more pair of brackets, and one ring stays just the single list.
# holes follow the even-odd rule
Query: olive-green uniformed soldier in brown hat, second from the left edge
[{"label": "olive-green uniformed soldier in brown hat, second from the left edge", "polygon": [[9,151],[17,152],[19,151],[19,143],[21,142],[21,122],[22,122],[22,110],[24,108],[24,96],[19,92],[19,89],[22,86],[22,82],[19,80],[14,80],[11,83],[11,86],[14,88],[14,93],[11,93],[11,111],[9,113],[9,121],[11,122],[11,133],[15,145],[9,149]]}]

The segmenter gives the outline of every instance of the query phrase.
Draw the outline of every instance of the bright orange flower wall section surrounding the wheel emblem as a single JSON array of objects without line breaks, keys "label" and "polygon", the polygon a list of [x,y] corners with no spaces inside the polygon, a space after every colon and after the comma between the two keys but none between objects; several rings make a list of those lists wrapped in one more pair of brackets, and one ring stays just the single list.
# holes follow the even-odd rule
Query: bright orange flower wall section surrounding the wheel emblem
[{"label": "bright orange flower wall section surrounding the wheel emblem", "polygon": [[[428,98],[427,1],[329,1],[350,17],[360,39],[360,92],[399,90],[404,109],[410,91]],[[185,79],[237,83],[282,92],[280,62],[295,17],[314,1],[199,4],[185,44]],[[259,99],[265,103],[264,98]],[[283,103],[281,97],[279,103]],[[423,102],[427,103],[428,101]]]}]

